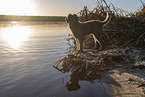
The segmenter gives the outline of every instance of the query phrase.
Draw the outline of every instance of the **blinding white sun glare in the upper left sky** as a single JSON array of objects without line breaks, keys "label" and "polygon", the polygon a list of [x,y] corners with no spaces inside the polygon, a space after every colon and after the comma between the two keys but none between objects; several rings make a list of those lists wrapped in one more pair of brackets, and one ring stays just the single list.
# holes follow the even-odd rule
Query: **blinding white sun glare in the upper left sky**
[{"label": "blinding white sun glare in the upper left sky", "polygon": [[33,0],[2,0],[0,9],[4,15],[37,15]]}]

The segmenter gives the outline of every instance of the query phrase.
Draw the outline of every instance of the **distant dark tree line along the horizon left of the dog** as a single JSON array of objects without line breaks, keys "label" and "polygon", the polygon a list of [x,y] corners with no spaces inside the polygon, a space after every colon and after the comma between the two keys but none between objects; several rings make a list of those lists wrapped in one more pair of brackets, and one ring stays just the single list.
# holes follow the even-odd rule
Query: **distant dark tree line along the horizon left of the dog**
[{"label": "distant dark tree line along the horizon left of the dog", "polygon": [[0,21],[65,21],[65,17],[0,15]]}]

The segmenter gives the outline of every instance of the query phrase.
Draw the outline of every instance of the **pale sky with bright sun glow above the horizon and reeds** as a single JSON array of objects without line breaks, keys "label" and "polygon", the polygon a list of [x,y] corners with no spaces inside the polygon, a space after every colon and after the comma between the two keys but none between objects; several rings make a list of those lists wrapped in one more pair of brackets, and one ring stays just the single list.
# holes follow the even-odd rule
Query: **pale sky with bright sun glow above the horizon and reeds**
[{"label": "pale sky with bright sun glow above the horizon and reeds", "polygon": [[[145,2],[145,0],[142,0]],[[84,6],[96,7],[97,0],[0,0],[0,15],[66,16],[78,13]],[[108,4],[134,12],[141,7],[140,0],[106,0]]]}]

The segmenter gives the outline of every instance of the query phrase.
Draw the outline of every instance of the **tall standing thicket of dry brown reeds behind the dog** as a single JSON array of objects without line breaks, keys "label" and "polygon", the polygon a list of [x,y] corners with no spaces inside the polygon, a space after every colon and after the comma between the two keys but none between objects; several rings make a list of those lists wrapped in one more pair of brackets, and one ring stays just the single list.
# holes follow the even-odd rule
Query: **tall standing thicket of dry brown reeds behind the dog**
[{"label": "tall standing thicket of dry brown reeds behind the dog", "polygon": [[[105,2],[105,0],[102,0]],[[106,12],[112,13],[111,21],[104,27],[103,40],[108,48],[145,48],[145,6],[135,13],[129,13],[112,4],[105,7],[97,2],[97,7],[90,11],[86,6],[79,12],[81,21],[104,20]],[[92,41],[93,42],[93,41]]]}]

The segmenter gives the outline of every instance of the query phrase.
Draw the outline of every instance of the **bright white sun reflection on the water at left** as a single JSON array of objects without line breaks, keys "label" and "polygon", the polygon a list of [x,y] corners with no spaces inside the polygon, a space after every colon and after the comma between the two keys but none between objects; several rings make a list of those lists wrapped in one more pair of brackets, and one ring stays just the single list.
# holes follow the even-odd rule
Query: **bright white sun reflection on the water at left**
[{"label": "bright white sun reflection on the water at left", "polygon": [[32,30],[27,26],[12,26],[2,29],[0,34],[10,51],[20,51],[32,35]]}]

